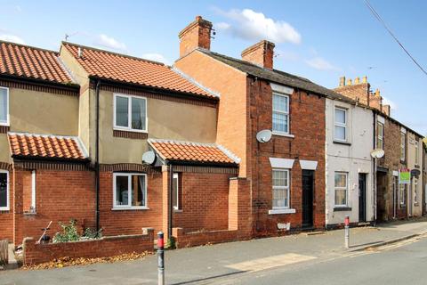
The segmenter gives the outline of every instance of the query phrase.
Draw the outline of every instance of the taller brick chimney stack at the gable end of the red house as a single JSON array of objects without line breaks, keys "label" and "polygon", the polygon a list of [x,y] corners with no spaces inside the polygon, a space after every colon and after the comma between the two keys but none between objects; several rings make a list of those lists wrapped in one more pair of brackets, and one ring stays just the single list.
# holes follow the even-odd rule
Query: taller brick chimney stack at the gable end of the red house
[{"label": "taller brick chimney stack at the gable end of the red house", "polygon": [[189,26],[182,29],[180,37],[180,57],[191,53],[197,47],[211,49],[212,22],[197,16]]}]

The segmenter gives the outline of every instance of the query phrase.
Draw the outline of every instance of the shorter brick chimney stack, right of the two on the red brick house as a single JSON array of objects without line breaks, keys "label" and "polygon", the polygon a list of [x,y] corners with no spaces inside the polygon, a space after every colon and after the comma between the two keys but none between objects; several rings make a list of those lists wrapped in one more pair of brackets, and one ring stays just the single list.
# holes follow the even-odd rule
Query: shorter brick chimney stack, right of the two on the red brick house
[{"label": "shorter brick chimney stack, right of the two on the red brick house", "polygon": [[274,44],[262,40],[242,52],[242,60],[252,62],[265,69],[273,69]]}]

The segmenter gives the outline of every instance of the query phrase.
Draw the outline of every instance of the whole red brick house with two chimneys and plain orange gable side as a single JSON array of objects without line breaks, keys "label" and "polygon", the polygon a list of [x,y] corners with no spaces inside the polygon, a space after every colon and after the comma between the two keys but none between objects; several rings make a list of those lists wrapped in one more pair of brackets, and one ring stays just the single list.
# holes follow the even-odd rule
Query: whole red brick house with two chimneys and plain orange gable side
[{"label": "whole red brick house with two chimneys and plain orange gable side", "polygon": [[[217,142],[238,155],[238,175],[251,183],[254,235],[324,228],[325,98],[342,96],[273,69],[268,41],[241,60],[210,51],[211,28],[197,17],[181,31],[174,67],[221,96]],[[270,142],[257,142],[263,129]]]}]

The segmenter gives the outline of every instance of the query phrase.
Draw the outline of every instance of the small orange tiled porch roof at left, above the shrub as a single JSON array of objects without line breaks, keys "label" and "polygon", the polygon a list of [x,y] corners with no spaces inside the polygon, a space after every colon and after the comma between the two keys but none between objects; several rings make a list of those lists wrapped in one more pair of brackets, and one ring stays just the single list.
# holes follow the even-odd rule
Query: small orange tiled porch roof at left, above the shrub
[{"label": "small orange tiled porch roof at left, above the shrub", "polygon": [[86,159],[76,136],[8,133],[12,156],[40,159]]}]

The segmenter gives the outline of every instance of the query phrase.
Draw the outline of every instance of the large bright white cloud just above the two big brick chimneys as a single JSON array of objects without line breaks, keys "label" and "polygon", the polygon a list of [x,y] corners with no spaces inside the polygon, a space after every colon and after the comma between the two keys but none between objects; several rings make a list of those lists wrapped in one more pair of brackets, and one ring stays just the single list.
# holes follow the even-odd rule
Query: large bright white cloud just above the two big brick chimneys
[{"label": "large bright white cloud just above the two big brick chimneys", "polygon": [[301,43],[301,35],[284,20],[273,20],[262,12],[254,12],[251,9],[232,9],[228,12],[215,10],[234,22],[233,24],[220,22],[215,27],[230,32],[235,37],[247,40],[268,39],[275,43]]}]

